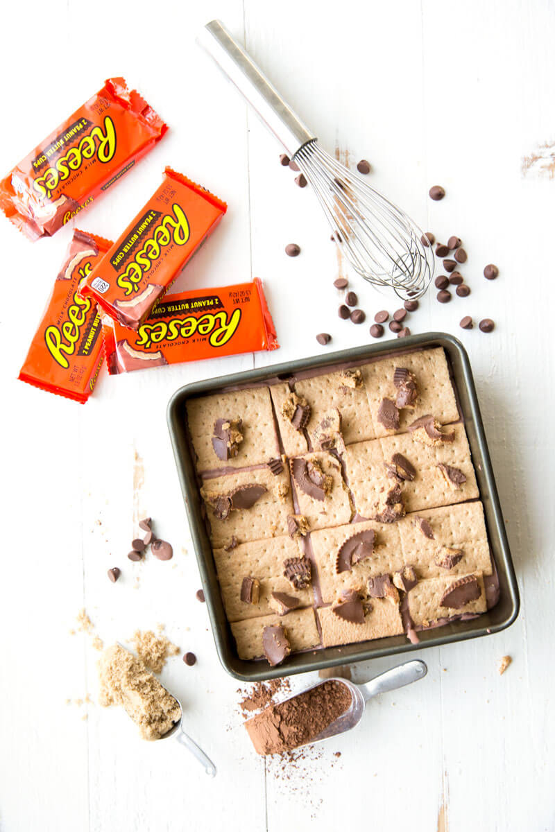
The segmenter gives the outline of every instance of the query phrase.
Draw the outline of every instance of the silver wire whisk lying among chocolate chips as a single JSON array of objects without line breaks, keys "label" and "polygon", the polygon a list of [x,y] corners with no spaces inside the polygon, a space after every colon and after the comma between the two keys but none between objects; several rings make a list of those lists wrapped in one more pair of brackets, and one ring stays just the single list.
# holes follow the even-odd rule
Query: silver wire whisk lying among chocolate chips
[{"label": "silver wire whisk lying among chocolate chips", "polygon": [[403,299],[424,295],[434,256],[418,225],[320,147],[221,22],[208,23],[198,39],[299,166],[354,270]]}]

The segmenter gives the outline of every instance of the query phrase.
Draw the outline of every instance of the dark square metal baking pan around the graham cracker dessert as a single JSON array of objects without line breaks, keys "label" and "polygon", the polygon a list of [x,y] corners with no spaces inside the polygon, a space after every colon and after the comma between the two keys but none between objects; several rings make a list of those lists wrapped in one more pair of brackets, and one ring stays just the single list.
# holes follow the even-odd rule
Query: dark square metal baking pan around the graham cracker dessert
[{"label": "dark square metal baking pan around the graham cracker dessert", "polygon": [[[225,617],[216,566],[212,557],[211,543],[203,518],[201,495],[196,478],[195,466],[186,429],[186,402],[201,395],[223,392],[230,386],[249,387],[264,383],[276,376],[288,377],[302,370],[326,368],[339,362],[355,362],[364,359],[378,359],[382,355],[403,353],[411,349],[443,347],[452,374],[459,408],[463,415],[468,443],[472,453],[476,479],[483,503],[488,527],[488,539],[499,578],[499,602],[488,612],[471,621],[458,621],[436,629],[419,632],[419,644],[412,645],[406,636],[388,636],[376,641],[362,641],[337,647],[325,647],[295,653],[285,664],[270,667],[266,661],[245,661],[237,656],[235,641]],[[364,347],[345,349],[338,353],[315,355],[309,359],[275,364],[270,367],[248,370],[245,373],[226,375],[217,379],[206,379],[181,387],[170,399],[167,409],[171,443],[176,458],[177,472],[186,512],[191,527],[196,559],[201,572],[202,587],[206,606],[211,619],[216,650],[225,670],[241,681],[261,681],[278,676],[316,671],[325,667],[347,664],[350,661],[367,661],[377,656],[395,656],[423,647],[435,647],[452,641],[486,636],[499,632],[513,623],[518,616],[519,598],[513,562],[508,547],[503,514],[499,505],[498,491],[483,433],[482,418],[474,388],[472,370],[463,345],[446,333],[411,335],[405,339],[388,341],[384,344],[369,344]]]}]

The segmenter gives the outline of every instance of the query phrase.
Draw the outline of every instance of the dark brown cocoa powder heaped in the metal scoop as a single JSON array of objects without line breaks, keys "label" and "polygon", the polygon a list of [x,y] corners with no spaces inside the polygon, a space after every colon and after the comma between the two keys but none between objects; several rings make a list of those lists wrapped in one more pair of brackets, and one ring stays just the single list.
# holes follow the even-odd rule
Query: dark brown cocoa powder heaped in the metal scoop
[{"label": "dark brown cocoa powder heaped in the metal scoop", "polygon": [[347,711],[351,701],[346,685],[326,681],[299,696],[268,706],[246,721],[245,728],[258,754],[283,754],[314,740]]}]

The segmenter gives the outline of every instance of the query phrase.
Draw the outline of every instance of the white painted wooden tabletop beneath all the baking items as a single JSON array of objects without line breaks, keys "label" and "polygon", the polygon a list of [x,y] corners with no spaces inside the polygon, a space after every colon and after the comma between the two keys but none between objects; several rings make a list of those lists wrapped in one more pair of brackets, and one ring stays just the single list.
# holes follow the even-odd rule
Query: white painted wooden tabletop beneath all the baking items
[{"label": "white painted wooden tabletop beneath all the baking items", "polygon": [[[319,746],[290,780],[256,757],[238,683],[222,670],[166,430],[181,384],[369,340],[336,314],[338,262],[310,189],[195,45],[221,17],[322,144],[441,240],[468,250],[472,295],[434,290],[409,326],[458,335],[470,354],[508,522],[522,611],[498,636],[424,651],[429,675],[374,701],[359,729]],[[85,407],[18,382],[71,230],[31,245],[2,220],[2,832],[553,830],[553,209],[555,181],[523,156],[555,139],[553,2],[254,0],[132,5],[19,2],[2,11],[2,173],[104,78],[124,74],[171,132],[79,227],[117,235],[170,163],[229,202],[176,289],[265,281],[281,349],[116,378]],[[544,156],[548,151],[543,151]],[[549,155],[549,153],[548,153]],[[434,203],[429,186],[441,184]],[[297,242],[302,254],[284,254]],[[483,265],[499,265],[497,281]],[[354,277],[369,316],[394,310]],[[493,334],[458,320],[492,317]],[[328,349],[330,349],[328,348]],[[126,559],[149,514],[173,542],[162,563]],[[120,565],[112,585],[107,568]],[[198,656],[162,681],[218,765],[209,781],[176,743],[148,744],[97,699],[86,607],[106,642],[157,622]],[[498,659],[513,664],[498,676]],[[416,653],[414,655],[420,655]],[[356,667],[364,680],[393,664]],[[296,679],[295,686],[311,681]],[[67,705],[90,696],[87,706]],[[82,716],[88,715],[87,720]],[[340,751],[338,758],[334,753]]]}]

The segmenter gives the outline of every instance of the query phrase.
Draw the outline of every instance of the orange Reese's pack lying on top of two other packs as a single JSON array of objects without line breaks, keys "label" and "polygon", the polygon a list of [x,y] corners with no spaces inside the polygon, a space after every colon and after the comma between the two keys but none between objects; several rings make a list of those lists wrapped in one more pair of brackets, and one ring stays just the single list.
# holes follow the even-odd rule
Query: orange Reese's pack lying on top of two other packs
[{"label": "orange Reese's pack lying on top of two other packs", "polygon": [[82,295],[138,329],[226,210],[217,196],[166,167],[161,186],[88,275]]}]

